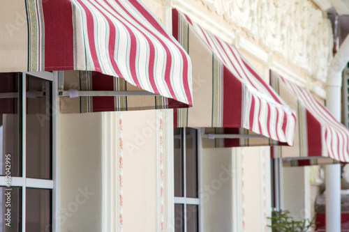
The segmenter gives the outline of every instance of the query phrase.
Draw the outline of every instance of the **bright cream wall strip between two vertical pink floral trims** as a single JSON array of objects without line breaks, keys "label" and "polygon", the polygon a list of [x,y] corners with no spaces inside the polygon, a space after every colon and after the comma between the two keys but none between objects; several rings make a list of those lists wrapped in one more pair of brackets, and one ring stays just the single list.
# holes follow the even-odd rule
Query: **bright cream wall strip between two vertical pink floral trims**
[{"label": "bright cream wall strip between two vertical pink floral trims", "polygon": [[157,231],[156,111],[122,114],[124,231]]}]

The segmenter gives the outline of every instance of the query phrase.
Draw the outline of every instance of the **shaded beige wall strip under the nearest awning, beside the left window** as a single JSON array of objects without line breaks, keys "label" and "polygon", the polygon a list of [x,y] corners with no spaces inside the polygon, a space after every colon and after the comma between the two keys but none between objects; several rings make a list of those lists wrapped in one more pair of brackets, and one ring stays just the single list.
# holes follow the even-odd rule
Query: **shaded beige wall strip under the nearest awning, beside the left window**
[{"label": "shaded beige wall strip under the nearest awning, beside the left window", "polygon": [[101,231],[102,114],[61,114],[61,231]]}]

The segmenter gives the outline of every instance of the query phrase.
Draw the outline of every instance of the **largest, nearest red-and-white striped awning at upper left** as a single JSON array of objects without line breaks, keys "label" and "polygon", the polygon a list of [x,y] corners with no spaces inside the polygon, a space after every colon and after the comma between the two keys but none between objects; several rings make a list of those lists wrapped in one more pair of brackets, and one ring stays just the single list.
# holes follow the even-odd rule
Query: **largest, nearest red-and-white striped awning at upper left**
[{"label": "largest, nearest red-and-white striped awning at upper left", "polygon": [[[64,83],[64,91],[75,89],[71,95],[147,91],[161,96],[84,97],[82,102],[93,103],[77,111],[193,105],[188,54],[139,1],[15,0],[1,1],[0,6],[5,26],[0,72],[80,70],[69,73],[70,80]],[[68,105],[66,111],[73,109],[76,105]]]}]

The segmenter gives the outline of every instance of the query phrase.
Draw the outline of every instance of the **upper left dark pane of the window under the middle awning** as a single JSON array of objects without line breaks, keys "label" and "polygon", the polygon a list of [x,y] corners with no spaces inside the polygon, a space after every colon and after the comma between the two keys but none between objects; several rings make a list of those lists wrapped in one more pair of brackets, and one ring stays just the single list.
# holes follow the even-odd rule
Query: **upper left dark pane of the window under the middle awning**
[{"label": "upper left dark pane of the window under the middle awning", "polygon": [[184,196],[182,130],[174,128],[174,196]]}]

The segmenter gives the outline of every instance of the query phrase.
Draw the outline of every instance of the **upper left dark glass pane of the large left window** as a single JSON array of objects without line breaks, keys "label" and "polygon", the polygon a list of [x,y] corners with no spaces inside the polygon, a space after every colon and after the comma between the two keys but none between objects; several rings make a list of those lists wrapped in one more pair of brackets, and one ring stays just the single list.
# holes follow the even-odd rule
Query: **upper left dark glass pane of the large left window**
[{"label": "upper left dark glass pane of the large left window", "polygon": [[0,73],[0,175],[22,176],[22,77]]}]

